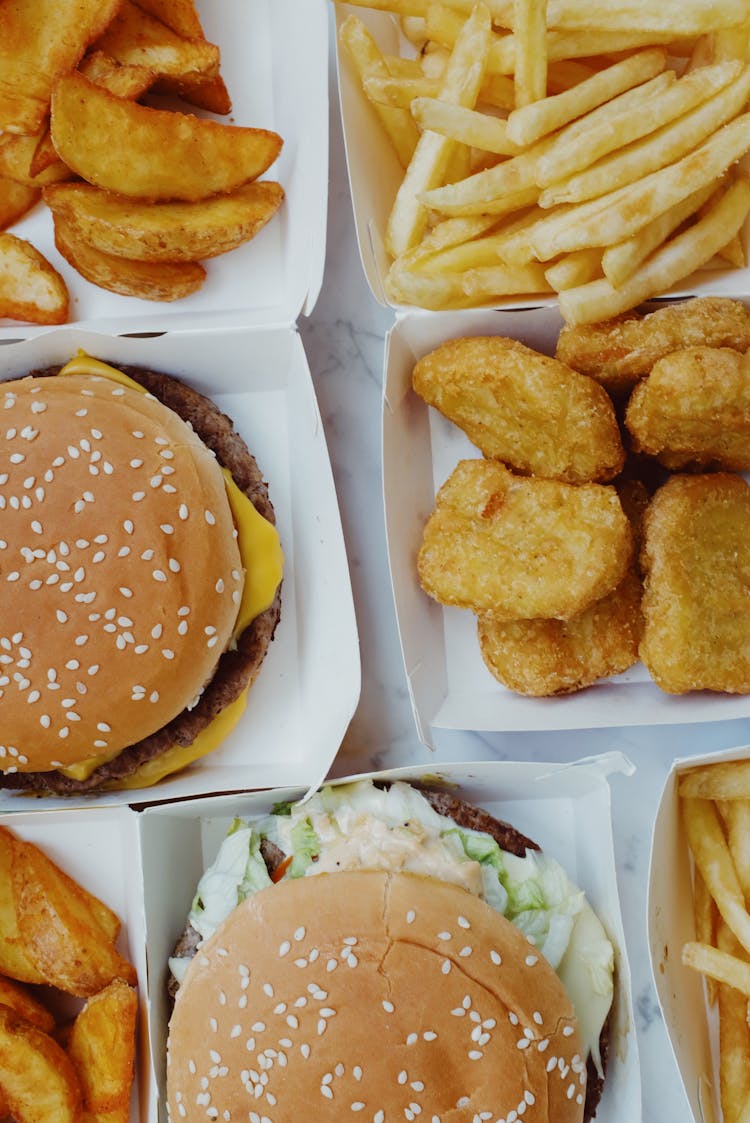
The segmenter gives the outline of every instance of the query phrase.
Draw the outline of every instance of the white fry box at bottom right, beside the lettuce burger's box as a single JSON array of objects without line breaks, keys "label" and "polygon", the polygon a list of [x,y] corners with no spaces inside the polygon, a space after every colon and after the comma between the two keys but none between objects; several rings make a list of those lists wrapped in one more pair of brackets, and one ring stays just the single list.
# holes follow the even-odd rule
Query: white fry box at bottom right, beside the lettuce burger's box
[{"label": "white fry box at bottom right, beside the lettuce burger's box", "polygon": [[719,1032],[702,976],[683,966],[683,944],[695,940],[692,858],[677,786],[682,773],[720,760],[747,760],[750,747],[675,760],[665,782],[651,840],[648,891],[653,984],[685,1097],[695,1123],[719,1123]]}]

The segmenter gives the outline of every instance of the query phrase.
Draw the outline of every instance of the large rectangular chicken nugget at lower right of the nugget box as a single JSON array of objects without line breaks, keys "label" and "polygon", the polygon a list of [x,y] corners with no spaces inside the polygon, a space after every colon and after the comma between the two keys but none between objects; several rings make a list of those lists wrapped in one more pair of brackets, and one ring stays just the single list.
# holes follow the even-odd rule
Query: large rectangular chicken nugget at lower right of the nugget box
[{"label": "large rectangular chicken nugget at lower right of the nugget box", "polygon": [[750,486],[673,476],[646,512],[640,656],[664,691],[750,692]]}]

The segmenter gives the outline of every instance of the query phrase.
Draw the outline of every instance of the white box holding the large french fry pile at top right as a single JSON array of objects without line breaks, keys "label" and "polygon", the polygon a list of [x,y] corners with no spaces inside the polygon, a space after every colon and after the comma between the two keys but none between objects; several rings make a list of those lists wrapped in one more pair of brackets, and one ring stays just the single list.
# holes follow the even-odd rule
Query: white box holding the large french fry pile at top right
[{"label": "white box holding the large french fry pile at top right", "polygon": [[[337,29],[348,16],[356,16],[372,33],[381,52],[385,55],[414,57],[415,48],[401,35],[397,17],[387,11],[371,11],[355,4],[337,3]],[[384,281],[391,265],[385,249],[385,230],[388,214],[403,180],[404,168],[400,164],[372,104],[354,73],[346,49],[337,38],[339,99],[344,141],[349,171],[349,185],[357,230],[359,256],[367,283],[375,299],[391,305],[399,312],[413,311],[413,305],[394,304],[387,300]],[[750,223],[742,231],[746,256],[750,245]],[[712,262],[677,285],[668,290],[669,295],[735,295],[748,287],[748,271],[722,268]],[[504,296],[490,302],[495,308],[552,307],[556,298],[550,293],[529,293]],[[482,307],[477,303],[475,307]]]}]

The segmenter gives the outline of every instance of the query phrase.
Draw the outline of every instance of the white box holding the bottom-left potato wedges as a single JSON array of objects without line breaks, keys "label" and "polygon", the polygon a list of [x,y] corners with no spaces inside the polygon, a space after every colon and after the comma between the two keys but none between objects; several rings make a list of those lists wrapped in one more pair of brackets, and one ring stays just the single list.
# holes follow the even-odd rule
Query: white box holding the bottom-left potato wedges
[{"label": "white box holding the bottom-left potato wedges", "polygon": [[[153,1117],[155,1085],[149,1062],[146,943],[138,861],[138,823],[128,807],[43,811],[0,815],[3,828],[39,847],[65,874],[109,905],[122,922],[117,949],[138,975],[136,1068],[130,1119]],[[45,989],[42,1001],[58,1022],[72,1019],[83,999]]]}]

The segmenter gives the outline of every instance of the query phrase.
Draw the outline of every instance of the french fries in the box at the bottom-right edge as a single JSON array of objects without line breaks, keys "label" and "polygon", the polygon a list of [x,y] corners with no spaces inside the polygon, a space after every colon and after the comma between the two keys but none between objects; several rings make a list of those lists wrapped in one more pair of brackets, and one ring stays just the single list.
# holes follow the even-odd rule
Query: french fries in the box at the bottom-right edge
[{"label": "french fries in the box at the bottom-right edge", "polygon": [[724,1123],[750,1121],[750,761],[684,773],[679,795],[694,859],[695,941],[683,962],[719,1005]]}]

